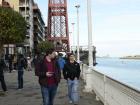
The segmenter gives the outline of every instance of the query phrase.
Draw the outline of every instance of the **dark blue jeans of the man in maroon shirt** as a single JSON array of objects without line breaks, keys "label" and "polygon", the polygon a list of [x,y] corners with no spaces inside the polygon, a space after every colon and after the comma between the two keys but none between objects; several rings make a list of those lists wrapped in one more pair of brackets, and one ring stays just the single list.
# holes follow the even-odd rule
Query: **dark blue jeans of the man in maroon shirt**
[{"label": "dark blue jeans of the man in maroon shirt", "polygon": [[54,97],[57,92],[57,85],[41,86],[43,105],[53,105]]}]

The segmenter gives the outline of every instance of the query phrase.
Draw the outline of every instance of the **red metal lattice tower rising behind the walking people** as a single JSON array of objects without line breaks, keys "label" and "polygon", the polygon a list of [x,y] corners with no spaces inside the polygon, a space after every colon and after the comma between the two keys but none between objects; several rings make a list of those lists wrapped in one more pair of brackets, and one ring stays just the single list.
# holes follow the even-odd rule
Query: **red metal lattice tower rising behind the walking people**
[{"label": "red metal lattice tower rising behind the walking people", "polygon": [[67,0],[48,0],[47,40],[54,43],[57,51],[69,52]]}]

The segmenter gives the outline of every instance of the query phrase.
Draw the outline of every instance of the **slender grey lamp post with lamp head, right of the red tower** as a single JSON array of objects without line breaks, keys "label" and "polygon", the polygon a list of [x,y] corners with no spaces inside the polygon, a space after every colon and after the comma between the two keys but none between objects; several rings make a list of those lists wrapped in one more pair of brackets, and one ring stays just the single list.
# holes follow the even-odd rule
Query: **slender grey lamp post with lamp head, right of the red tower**
[{"label": "slender grey lamp post with lamp head, right of the red tower", "polygon": [[75,6],[77,8],[77,62],[80,62],[80,54],[79,54],[79,8],[80,5]]}]

